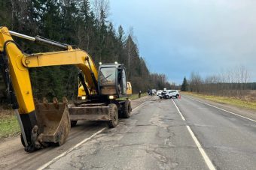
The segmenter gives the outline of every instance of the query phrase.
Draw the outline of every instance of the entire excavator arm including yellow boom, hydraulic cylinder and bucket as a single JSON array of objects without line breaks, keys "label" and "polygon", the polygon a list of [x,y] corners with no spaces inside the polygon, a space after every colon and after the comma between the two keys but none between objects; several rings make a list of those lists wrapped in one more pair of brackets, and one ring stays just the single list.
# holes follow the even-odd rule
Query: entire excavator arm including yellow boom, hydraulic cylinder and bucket
[{"label": "entire excavator arm including yellow boom, hydraulic cylinder and bucket", "polygon": [[[50,46],[58,46],[65,50],[25,55],[17,43],[14,42],[11,35],[23,37],[35,41],[35,43],[40,42],[47,43]],[[37,105],[33,99],[29,68],[73,64],[84,73],[90,94],[97,95],[99,94],[97,85],[98,72],[90,55],[81,49],[72,49],[72,46],[66,44],[57,43],[41,37],[29,37],[11,32],[6,27],[0,27],[0,57],[2,57],[0,61],[3,61],[3,63],[0,63],[0,66],[5,66],[2,70],[5,70],[4,76],[8,79],[6,84],[9,94],[12,94],[13,109],[18,113],[18,120],[20,120],[20,127],[26,148],[28,150],[34,150],[36,148],[37,142],[35,141],[38,140],[38,136],[35,135],[36,137],[34,138],[33,132],[42,134],[39,137],[44,138],[44,140],[41,141],[59,142],[59,145],[61,145],[69,133],[66,124],[69,124],[70,128],[66,101],[63,101],[62,105],[59,105],[57,100],[55,102],[53,100],[55,105],[48,106],[47,100],[45,100],[44,104]],[[43,107],[45,109],[43,111],[40,110]],[[65,112],[66,114],[64,114]],[[55,118],[54,114],[58,118]],[[56,125],[54,120],[64,123]],[[38,124],[41,124],[41,127]],[[37,130],[37,127],[39,130]],[[56,131],[53,132],[53,135],[48,134],[48,131],[53,129],[53,127],[56,128]]]}]

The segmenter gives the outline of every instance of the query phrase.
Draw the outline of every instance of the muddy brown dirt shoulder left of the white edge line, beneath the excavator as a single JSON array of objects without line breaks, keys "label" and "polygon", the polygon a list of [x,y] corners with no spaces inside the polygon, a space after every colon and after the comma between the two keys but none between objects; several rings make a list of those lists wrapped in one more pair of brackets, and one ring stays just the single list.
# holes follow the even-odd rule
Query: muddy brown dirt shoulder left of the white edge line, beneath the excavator
[{"label": "muddy brown dirt shoulder left of the white edge line, beneath the excavator", "polygon": [[[148,97],[142,97],[139,100],[132,101],[132,107],[136,108]],[[102,130],[108,129],[105,122],[101,121],[78,121],[76,127],[72,127],[65,145],[60,147],[45,148],[33,153],[26,153],[23,145],[20,143],[20,136],[8,138],[0,141],[0,169],[38,169],[40,166],[58,157],[70,148],[74,147],[84,139],[90,138],[93,134]]]}]

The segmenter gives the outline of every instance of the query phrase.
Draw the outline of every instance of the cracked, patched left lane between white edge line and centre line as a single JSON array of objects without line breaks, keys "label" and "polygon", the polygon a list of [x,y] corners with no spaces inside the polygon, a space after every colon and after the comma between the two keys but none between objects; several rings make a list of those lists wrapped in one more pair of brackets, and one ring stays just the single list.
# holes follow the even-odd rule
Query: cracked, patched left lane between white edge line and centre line
[{"label": "cracked, patched left lane between white edge line and centre line", "polygon": [[47,169],[207,169],[171,100],[148,100],[130,119]]}]

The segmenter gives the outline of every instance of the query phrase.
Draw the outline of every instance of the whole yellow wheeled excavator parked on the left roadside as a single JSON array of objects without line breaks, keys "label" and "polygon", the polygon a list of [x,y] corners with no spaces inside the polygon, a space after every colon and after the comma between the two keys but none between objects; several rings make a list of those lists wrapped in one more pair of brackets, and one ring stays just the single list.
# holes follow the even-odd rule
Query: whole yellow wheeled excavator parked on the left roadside
[{"label": "whole yellow wheeled excavator parked on the left roadside", "polygon": [[[25,54],[12,36],[62,51]],[[68,64],[80,70],[78,98],[81,100],[76,103],[69,103],[66,97],[62,102],[54,97],[53,103],[46,98],[35,100],[29,68]],[[132,108],[128,96],[132,94],[132,87],[126,82],[123,64],[100,64],[98,71],[90,55],[81,49],[0,27],[0,70],[20,124],[25,151],[35,151],[50,144],[62,145],[70,128],[79,120],[107,121],[108,127],[116,127],[118,115],[130,118]]]}]

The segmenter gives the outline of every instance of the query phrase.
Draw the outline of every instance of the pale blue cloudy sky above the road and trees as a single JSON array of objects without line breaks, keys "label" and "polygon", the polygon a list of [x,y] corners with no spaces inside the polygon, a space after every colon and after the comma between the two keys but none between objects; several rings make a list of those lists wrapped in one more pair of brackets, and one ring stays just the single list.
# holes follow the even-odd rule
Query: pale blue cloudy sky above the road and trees
[{"label": "pale blue cloudy sky above the road and trees", "polygon": [[133,33],[151,72],[181,83],[240,65],[256,81],[256,1],[110,0],[110,19]]}]

